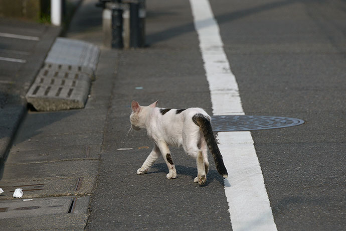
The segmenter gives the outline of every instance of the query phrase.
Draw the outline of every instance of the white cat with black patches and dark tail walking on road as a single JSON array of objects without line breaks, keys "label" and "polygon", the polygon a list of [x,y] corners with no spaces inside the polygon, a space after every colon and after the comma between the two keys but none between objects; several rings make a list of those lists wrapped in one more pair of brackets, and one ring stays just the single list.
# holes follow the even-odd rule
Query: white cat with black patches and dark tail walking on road
[{"label": "white cat with black patches and dark tail walking on road", "polygon": [[[197,162],[195,183],[203,185],[209,171],[208,148],[213,155],[218,172],[225,178],[228,173],[215,140],[211,118],[202,108],[165,109],[156,107],[157,102],[141,106],[135,100],[131,102],[131,129],[146,129],[147,135],[154,141],[154,147],[137,174],[145,174],[161,155],[167,164],[167,179],[177,178],[177,170],[168,146],[183,146],[184,151]],[[207,148],[208,147],[208,148]]]}]

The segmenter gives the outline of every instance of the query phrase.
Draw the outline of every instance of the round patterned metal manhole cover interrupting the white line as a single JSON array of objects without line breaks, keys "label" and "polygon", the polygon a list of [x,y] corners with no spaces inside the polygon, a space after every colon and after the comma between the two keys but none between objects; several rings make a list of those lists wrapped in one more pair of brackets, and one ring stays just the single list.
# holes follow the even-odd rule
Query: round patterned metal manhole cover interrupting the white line
[{"label": "round patterned metal manhole cover interrupting the white line", "polygon": [[215,132],[252,131],[278,129],[304,124],[303,120],[288,117],[267,116],[213,116]]}]

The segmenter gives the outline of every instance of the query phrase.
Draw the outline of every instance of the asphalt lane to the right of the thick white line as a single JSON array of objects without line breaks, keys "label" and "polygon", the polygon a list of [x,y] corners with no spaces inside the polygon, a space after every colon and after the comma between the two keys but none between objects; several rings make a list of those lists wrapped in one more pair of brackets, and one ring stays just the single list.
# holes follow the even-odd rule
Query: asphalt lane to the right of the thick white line
[{"label": "asphalt lane to the right of the thick white line", "polygon": [[245,113],[305,121],[252,132],[278,230],[342,230],[344,2],[218,1],[212,8]]}]

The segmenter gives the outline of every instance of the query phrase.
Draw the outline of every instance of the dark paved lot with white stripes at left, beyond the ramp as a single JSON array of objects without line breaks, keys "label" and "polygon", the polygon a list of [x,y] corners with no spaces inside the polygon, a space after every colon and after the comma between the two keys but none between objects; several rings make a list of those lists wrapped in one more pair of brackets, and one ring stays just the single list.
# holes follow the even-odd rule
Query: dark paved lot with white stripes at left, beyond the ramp
[{"label": "dark paved lot with white stripes at left, beyond the ramp", "polygon": [[[60,27],[2,19],[0,56],[0,166],[6,160],[18,125],[26,114],[25,94]],[[16,38],[20,35],[19,38]],[[15,36],[15,37],[14,37]]]}]

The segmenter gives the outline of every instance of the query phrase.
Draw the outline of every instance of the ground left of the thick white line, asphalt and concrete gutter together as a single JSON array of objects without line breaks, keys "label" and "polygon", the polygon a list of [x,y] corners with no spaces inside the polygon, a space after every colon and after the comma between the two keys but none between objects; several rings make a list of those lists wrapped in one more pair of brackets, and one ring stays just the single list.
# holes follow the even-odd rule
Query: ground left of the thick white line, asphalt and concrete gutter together
[{"label": "ground left of the thick white line, asphalt and concrete gutter together", "polygon": [[[102,9],[95,2],[83,1],[66,37],[101,46]],[[143,105],[159,99],[162,107],[198,105],[212,113],[189,3],[150,4],[150,48],[102,48],[84,109],[28,113],[0,181],[5,191],[0,196],[0,208],[6,211],[0,213],[4,229],[231,228],[224,212],[228,204],[223,179],[214,163],[208,187],[193,183],[196,160],[183,150],[172,149],[177,179],[166,179],[162,158],[150,174],[135,174],[152,143],[145,131],[125,138],[132,99]],[[12,197],[15,188],[23,188],[23,198]],[[213,206],[205,201],[213,201]]]}]

